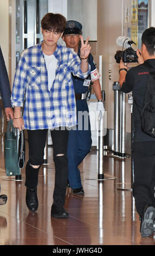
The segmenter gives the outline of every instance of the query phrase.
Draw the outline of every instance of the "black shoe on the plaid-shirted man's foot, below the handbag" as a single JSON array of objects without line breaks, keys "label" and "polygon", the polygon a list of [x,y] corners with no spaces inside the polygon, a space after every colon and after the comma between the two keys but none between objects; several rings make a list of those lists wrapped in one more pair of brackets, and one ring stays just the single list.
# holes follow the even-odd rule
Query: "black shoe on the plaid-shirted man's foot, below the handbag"
[{"label": "black shoe on the plaid-shirted man's foot, below the handbag", "polygon": [[37,188],[31,190],[27,187],[26,204],[30,211],[36,211],[38,209]]}]

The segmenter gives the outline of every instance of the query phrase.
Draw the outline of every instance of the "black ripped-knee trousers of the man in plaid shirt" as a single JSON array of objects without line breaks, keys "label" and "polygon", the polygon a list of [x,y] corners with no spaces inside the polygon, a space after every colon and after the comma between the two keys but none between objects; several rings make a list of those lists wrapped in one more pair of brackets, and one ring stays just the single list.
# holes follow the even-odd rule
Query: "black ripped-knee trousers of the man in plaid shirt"
[{"label": "black ripped-knee trousers of the man in plaid shirt", "polygon": [[[62,127],[62,129],[59,127],[58,129],[51,131],[51,138],[53,141],[53,158],[55,162],[55,188],[53,199],[55,203],[60,202],[64,204],[68,179],[68,130],[64,127]],[[41,166],[43,163],[47,131],[47,129],[28,130],[29,161],[26,166],[25,186],[29,188],[35,188],[37,186],[39,168],[35,169],[31,167],[30,164],[34,166]]]}]

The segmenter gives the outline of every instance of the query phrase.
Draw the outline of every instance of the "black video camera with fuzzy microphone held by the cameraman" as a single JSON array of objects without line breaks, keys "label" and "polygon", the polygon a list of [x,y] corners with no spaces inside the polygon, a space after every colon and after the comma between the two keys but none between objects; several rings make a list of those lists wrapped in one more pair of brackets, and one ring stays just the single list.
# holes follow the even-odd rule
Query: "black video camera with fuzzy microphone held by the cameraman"
[{"label": "black video camera with fuzzy microphone held by the cameraman", "polygon": [[[129,45],[135,44],[132,40],[127,42]],[[133,48],[130,46],[125,51],[117,51],[115,54],[115,60],[117,63],[120,63],[120,60],[124,63],[131,63],[131,62],[138,62],[138,56],[137,53],[133,50]]]}]

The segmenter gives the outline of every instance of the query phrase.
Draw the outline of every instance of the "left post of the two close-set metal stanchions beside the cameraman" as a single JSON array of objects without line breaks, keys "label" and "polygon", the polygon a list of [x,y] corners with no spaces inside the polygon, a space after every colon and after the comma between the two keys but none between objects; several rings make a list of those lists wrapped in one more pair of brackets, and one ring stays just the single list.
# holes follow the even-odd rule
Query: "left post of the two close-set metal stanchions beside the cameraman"
[{"label": "left post of the two close-set metal stanchions beside the cameraman", "polygon": [[114,91],[114,155],[119,153],[119,82],[113,83]]}]

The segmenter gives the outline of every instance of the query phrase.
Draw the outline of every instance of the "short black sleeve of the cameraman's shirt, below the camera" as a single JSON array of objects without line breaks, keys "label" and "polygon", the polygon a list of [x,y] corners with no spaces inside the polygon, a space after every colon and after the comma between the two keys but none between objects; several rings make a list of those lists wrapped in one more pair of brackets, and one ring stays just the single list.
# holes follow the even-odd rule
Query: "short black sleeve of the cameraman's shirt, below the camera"
[{"label": "short black sleeve of the cameraman's shirt, below the camera", "polygon": [[125,77],[125,81],[122,84],[122,92],[124,93],[130,93],[133,90],[133,85],[134,85],[134,76],[133,76],[133,72],[132,69],[130,69]]}]

